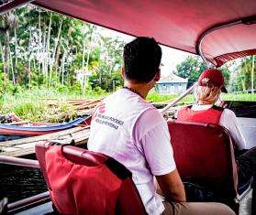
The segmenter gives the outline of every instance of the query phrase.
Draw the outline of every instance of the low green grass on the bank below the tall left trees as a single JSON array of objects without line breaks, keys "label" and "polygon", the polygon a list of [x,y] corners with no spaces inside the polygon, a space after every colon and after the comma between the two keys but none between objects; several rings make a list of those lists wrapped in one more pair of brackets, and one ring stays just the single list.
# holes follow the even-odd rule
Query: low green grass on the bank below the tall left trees
[{"label": "low green grass on the bank below the tall left trees", "polygon": [[[77,93],[69,89],[32,89],[2,94],[2,112],[15,113],[31,122],[58,123],[75,118],[76,112],[65,101],[69,99],[103,98],[106,91],[85,91]],[[53,102],[52,102],[53,101]]]}]

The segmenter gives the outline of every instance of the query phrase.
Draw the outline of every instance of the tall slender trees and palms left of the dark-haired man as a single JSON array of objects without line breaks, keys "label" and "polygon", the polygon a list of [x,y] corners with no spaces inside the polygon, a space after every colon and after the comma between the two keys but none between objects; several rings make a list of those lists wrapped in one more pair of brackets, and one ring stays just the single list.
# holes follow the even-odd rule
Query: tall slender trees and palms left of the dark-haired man
[{"label": "tall slender trees and palms left of the dark-haired man", "polygon": [[[7,0],[6,0],[7,2]],[[124,42],[106,29],[28,5],[0,16],[0,79],[31,89],[114,91]],[[1,88],[1,83],[0,83]],[[96,89],[98,91],[99,89]]]}]

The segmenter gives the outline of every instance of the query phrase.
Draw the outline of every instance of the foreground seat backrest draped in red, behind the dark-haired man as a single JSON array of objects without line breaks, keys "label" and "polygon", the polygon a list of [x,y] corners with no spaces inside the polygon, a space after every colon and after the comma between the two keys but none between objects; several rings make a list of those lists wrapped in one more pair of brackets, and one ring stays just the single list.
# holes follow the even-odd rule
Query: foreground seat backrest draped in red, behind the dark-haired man
[{"label": "foreground seat backrest draped in red, behind the dark-haired man", "polygon": [[131,173],[115,159],[50,142],[37,144],[36,155],[61,214],[146,214]]}]

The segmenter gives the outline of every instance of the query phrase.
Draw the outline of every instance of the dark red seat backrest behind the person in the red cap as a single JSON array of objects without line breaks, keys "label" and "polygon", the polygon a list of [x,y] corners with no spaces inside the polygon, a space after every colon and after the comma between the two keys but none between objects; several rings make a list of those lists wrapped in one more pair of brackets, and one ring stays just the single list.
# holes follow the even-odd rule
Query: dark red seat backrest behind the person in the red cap
[{"label": "dark red seat backrest behind the person in the red cap", "polygon": [[226,128],[217,124],[168,122],[174,160],[183,180],[237,195],[234,150]]}]

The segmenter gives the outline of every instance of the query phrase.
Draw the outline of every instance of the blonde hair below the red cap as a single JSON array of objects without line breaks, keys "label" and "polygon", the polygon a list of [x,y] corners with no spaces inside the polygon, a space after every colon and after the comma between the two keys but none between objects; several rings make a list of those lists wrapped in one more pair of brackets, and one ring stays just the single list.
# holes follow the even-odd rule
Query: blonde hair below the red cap
[{"label": "blonde hair below the red cap", "polygon": [[221,88],[219,87],[206,87],[206,86],[195,86],[194,96],[195,102],[198,104],[214,104],[217,102]]}]

